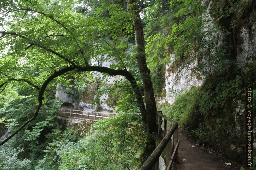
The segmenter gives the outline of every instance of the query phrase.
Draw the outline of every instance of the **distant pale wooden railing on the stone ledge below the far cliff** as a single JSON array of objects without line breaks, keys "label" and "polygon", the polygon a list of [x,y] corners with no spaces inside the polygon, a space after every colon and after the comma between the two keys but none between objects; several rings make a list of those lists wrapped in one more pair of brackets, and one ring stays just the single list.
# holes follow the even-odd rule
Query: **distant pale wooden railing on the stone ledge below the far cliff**
[{"label": "distant pale wooden railing on the stone ledge below the far cliff", "polygon": [[116,113],[92,112],[92,111],[64,109],[64,108],[59,108],[58,110],[59,110],[59,113],[61,114],[64,113],[64,115],[67,115],[67,116],[75,115],[75,117],[94,119],[94,120],[104,119],[109,116],[116,115]]}]

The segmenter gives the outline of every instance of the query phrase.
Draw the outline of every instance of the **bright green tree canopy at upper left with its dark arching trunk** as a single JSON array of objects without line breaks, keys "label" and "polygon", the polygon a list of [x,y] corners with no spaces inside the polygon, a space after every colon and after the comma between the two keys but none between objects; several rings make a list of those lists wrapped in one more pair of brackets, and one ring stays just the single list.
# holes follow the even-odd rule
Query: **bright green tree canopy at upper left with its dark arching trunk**
[{"label": "bright green tree canopy at upper left with its dark arching trunk", "polygon": [[[81,74],[84,71],[124,76],[132,84],[144,122],[154,124],[155,116],[153,121],[152,116],[146,121],[143,98],[134,78],[137,73],[136,68],[139,66],[142,80],[148,80],[142,81],[146,105],[149,112],[155,112],[153,86],[150,76],[145,74],[146,72],[149,74],[145,54],[141,56],[145,51],[142,24],[136,25],[136,22],[141,23],[138,6],[135,2],[129,2],[132,6],[129,12],[130,8],[123,8],[122,4],[102,3],[94,9],[94,13],[90,10],[81,13],[76,8],[79,5],[77,3],[76,1],[58,3],[57,1],[4,1],[1,4],[3,22],[0,31],[2,51],[0,89],[6,88],[8,84],[25,82],[31,85],[31,91],[38,92],[34,116],[20,129],[36,118],[44,100],[47,100],[45,90],[54,88],[55,84],[52,81],[54,78],[62,85],[66,85],[65,77],[74,75],[75,72]],[[84,4],[84,7],[89,8],[88,5]],[[133,39],[132,20],[135,21],[135,32],[142,32],[135,33],[138,52],[127,54],[125,49],[129,47],[129,39]],[[141,40],[139,45],[138,40]],[[105,57],[100,58],[99,56],[103,54]],[[104,61],[114,61],[114,63],[108,68],[101,66],[100,63]],[[92,74],[95,73],[89,74],[87,80],[94,79]],[[145,89],[150,84],[149,89]],[[152,110],[152,107],[155,109]]]}]

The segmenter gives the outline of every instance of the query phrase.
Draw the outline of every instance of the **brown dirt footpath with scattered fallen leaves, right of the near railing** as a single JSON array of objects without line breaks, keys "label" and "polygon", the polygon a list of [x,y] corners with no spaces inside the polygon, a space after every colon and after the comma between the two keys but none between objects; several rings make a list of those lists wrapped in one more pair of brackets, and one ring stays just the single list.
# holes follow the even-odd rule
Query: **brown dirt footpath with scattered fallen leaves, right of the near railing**
[{"label": "brown dirt footpath with scattered fallen leaves, right of the near railing", "polygon": [[[235,170],[237,166],[225,165],[225,162],[210,154],[209,151],[198,148],[179,128],[180,147],[178,149],[178,162],[173,170]],[[192,147],[195,146],[195,147]]]}]

